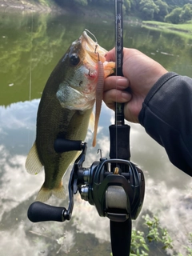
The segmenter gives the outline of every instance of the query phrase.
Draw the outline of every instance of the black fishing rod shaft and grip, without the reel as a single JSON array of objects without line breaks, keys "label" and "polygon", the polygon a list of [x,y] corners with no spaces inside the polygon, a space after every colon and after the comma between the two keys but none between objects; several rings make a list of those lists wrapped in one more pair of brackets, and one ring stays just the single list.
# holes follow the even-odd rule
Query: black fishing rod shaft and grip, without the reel
[{"label": "black fishing rod shaft and grip, without the reel", "polygon": [[[115,21],[115,74],[123,76],[123,15],[122,0],[114,0]],[[124,104],[115,103],[114,125],[110,126],[110,158],[130,160],[130,126],[124,123]],[[123,164],[114,164],[113,168],[123,170]],[[130,202],[128,202],[130,203]],[[130,206],[129,206],[130,207]],[[129,209],[130,210],[130,209]],[[130,255],[132,221],[130,212],[122,222],[110,219],[110,241],[113,256]]]}]

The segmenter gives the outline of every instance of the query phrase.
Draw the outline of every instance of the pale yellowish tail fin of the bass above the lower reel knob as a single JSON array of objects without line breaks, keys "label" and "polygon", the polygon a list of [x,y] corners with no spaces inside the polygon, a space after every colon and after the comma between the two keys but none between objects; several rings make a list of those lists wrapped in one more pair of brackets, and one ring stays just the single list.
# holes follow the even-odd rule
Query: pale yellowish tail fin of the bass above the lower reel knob
[{"label": "pale yellowish tail fin of the bass above the lower reel knob", "polygon": [[60,199],[66,198],[66,192],[62,183],[60,186],[54,188],[53,190],[49,190],[42,185],[42,188],[41,190],[39,190],[38,196],[35,201],[46,202],[52,194]]}]

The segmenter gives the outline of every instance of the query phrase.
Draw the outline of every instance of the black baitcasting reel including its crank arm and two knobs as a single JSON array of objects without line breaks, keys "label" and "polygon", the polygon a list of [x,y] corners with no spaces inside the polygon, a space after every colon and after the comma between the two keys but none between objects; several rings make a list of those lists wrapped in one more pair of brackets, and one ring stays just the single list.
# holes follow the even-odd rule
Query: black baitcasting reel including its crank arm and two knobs
[{"label": "black baitcasting reel including its crank arm and two knobs", "polygon": [[74,194],[95,206],[98,214],[114,222],[136,219],[142,209],[145,181],[142,170],[132,162],[122,159],[100,158],[89,168],[82,166],[86,158],[86,142],[58,138],[54,143],[57,152],[82,150],[74,162],[69,181],[68,209],[34,202],[28,210],[31,222],[70,220]]}]

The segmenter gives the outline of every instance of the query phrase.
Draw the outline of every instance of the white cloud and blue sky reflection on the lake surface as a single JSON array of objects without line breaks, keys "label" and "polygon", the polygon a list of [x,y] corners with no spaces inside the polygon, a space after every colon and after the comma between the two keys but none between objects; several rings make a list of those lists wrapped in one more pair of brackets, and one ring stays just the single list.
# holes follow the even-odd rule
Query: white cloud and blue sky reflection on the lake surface
[{"label": "white cloud and blue sky reflection on the lake surface", "polygon": [[[83,255],[80,241],[86,244],[87,236],[93,235],[90,247],[94,249],[95,240],[99,241],[98,246],[105,241],[109,244],[110,233],[109,220],[100,218],[94,206],[83,201],[79,195],[74,196],[74,212],[70,222],[33,224],[26,218],[27,209],[34,201],[44,179],[43,172],[31,176],[25,170],[29,144],[31,146],[34,141],[38,102],[39,100],[33,100],[18,102],[6,108],[0,107],[0,254],[8,255],[12,251],[12,255],[34,256],[50,255],[49,252],[52,251],[53,255],[63,255],[76,250]],[[114,113],[103,106],[97,146],[91,147],[91,132],[86,137],[88,153],[84,166],[89,167],[94,161],[98,161],[98,149],[102,150],[103,157],[109,158],[108,126],[113,118]],[[150,211],[158,215],[161,225],[167,228],[174,239],[174,249],[182,252],[182,246],[189,245],[187,236],[192,230],[191,179],[169,162],[162,146],[154,142],[141,126],[130,126],[131,159],[142,167],[146,177],[142,214]],[[23,139],[25,133],[28,134],[25,137],[27,139]],[[22,147],[15,144],[13,149],[7,139],[10,137],[22,142]],[[64,177],[66,190],[69,176],[70,171]],[[62,202],[54,197],[49,203],[68,206],[67,200]],[[142,214],[134,221],[134,226],[138,229]]]}]

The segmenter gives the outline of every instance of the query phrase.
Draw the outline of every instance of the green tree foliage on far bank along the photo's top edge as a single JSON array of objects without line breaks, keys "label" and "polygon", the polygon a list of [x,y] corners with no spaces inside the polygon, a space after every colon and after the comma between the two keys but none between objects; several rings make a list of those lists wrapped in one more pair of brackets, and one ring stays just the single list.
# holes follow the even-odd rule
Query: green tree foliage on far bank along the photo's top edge
[{"label": "green tree foliage on far bank along the photo's top edge", "polygon": [[[48,0],[39,0],[47,2]],[[49,0],[50,1],[50,0]],[[114,5],[114,0],[53,0],[62,6],[103,6]],[[143,20],[182,23],[191,20],[192,0],[124,0],[126,15],[137,14]]]}]

